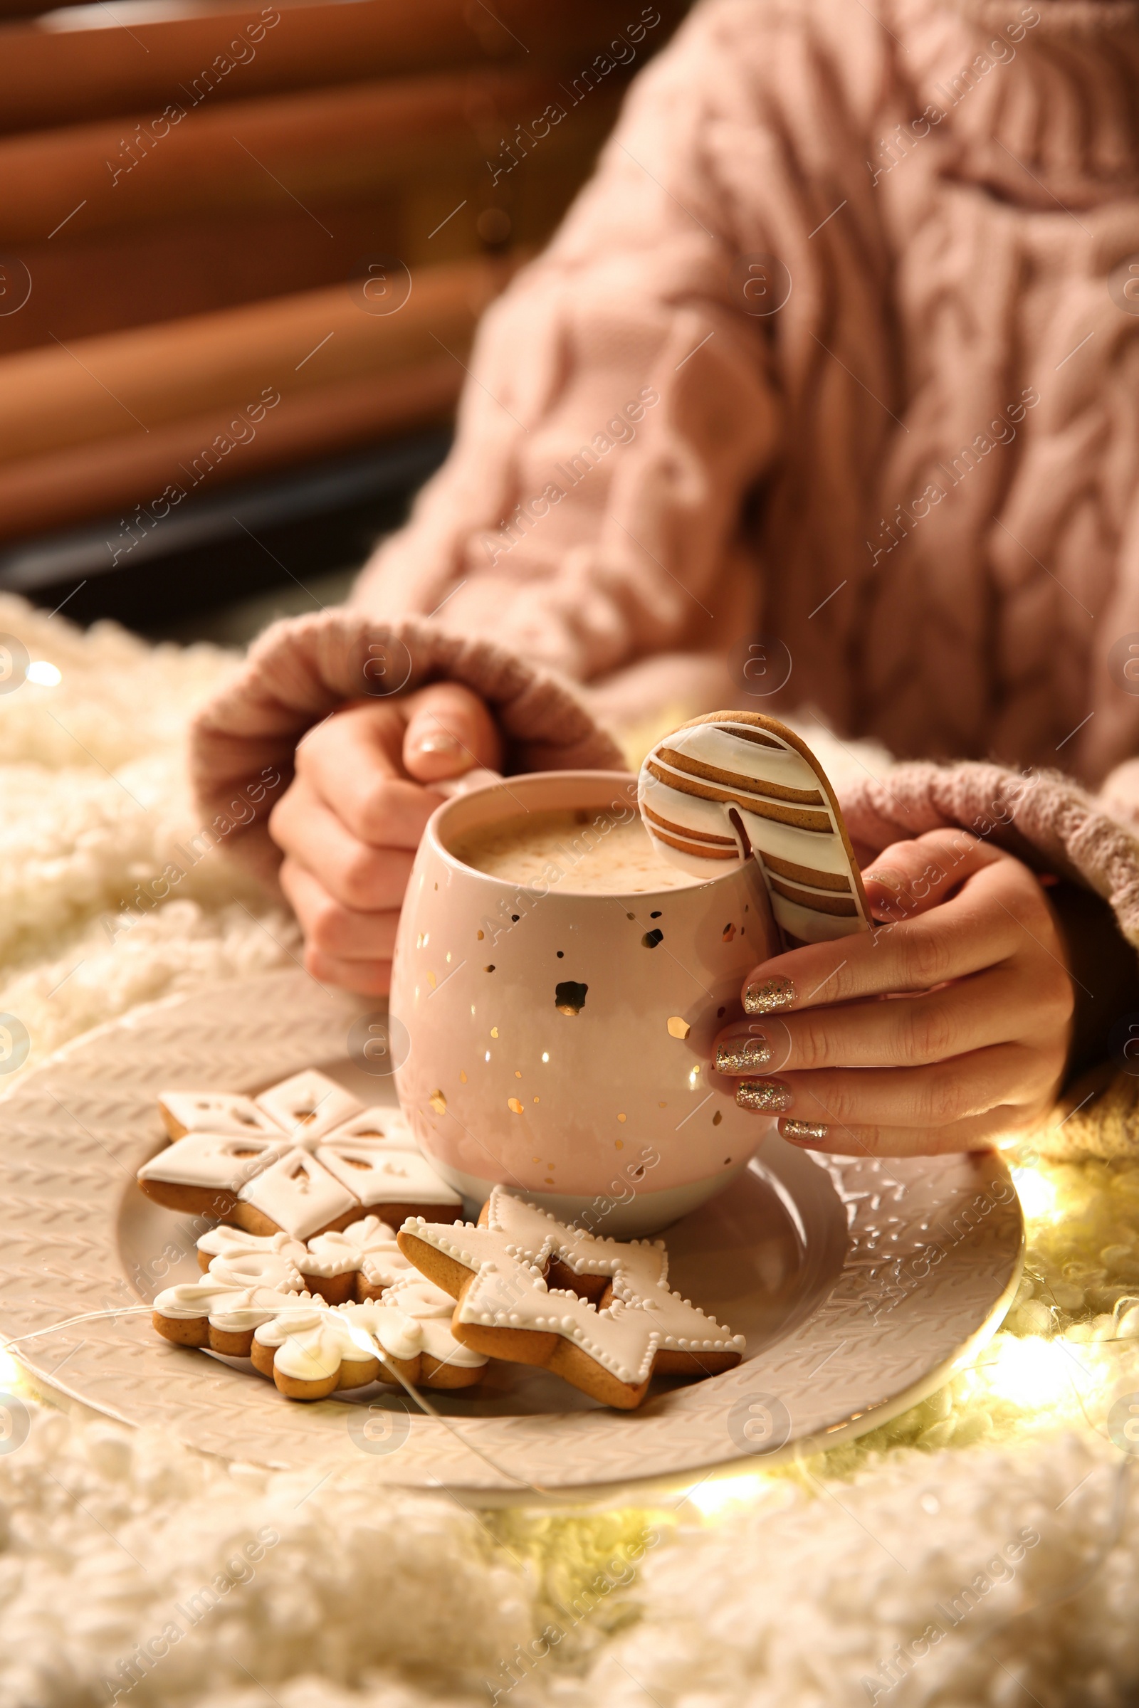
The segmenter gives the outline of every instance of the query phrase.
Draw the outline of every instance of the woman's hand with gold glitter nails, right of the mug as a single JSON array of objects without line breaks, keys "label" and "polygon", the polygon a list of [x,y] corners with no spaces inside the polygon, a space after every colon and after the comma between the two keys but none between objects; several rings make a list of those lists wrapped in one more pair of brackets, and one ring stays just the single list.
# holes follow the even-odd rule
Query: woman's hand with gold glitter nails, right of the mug
[{"label": "woman's hand with gold glitter nails, right of the mug", "polygon": [[984,1149],[1030,1126],[1059,1090],[1074,1009],[1038,880],[975,837],[931,830],[862,881],[885,924],[748,975],[755,1018],[716,1040],[736,1102],[847,1155]]}]

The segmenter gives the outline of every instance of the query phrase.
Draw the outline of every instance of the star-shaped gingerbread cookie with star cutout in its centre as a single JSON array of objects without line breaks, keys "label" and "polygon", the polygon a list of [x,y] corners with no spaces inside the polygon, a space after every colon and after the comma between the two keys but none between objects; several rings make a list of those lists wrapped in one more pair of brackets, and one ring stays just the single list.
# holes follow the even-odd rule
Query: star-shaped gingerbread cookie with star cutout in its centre
[{"label": "star-shaped gingerbread cookie with star cutout in its centre", "polygon": [[410,1218],[400,1250],[458,1305],[456,1341],[543,1365],[606,1406],[642,1402],[654,1373],[717,1375],[741,1334],[668,1286],[661,1240],[596,1238],[495,1187],[475,1223]]}]

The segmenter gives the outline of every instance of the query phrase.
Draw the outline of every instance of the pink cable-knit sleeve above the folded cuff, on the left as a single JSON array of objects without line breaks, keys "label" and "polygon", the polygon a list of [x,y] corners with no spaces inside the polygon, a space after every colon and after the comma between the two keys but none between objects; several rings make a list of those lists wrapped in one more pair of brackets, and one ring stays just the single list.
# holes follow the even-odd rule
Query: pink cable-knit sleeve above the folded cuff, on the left
[{"label": "pink cable-knit sleeve above the folded cuff, on the left", "polygon": [[716,164],[733,58],[698,9],[640,75],[560,232],[485,316],[451,458],[357,608],[439,610],[577,681],[746,625],[755,569],[731,545],[779,405],[739,249],[777,244],[741,241]]}]

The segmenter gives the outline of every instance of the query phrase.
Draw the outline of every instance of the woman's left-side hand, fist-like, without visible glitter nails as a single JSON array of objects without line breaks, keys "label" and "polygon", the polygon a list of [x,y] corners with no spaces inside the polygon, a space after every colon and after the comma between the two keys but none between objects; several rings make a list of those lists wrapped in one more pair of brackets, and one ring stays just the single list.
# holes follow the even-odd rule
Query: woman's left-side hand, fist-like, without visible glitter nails
[{"label": "woman's left-side hand, fist-like, without visible glitter nails", "polygon": [[500,762],[487,705],[453,681],[348,705],[302,738],[268,828],[312,977],[388,991],[415,849],[444,799],[430,784]]}]

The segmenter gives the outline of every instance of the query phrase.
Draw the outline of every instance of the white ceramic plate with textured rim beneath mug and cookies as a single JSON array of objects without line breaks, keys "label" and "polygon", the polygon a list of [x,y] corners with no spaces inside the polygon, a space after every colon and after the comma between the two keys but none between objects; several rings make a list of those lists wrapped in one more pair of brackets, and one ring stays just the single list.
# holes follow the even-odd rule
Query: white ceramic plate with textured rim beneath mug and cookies
[{"label": "white ceramic plate with textured rim beneath mug and cookies", "polygon": [[302,972],[225,984],[87,1033],[0,1102],[0,1332],[51,1331],[19,1348],[38,1382],[229,1459],[331,1471],[369,1454],[391,1484],[581,1498],[869,1430],[970,1360],[1008,1308],[1023,1230],[999,1158],[823,1163],[772,1132],[666,1235],[673,1283],[746,1334],[746,1360],[657,1382],[635,1413],[500,1363],[471,1395],[429,1395],[446,1423],[379,1385],[302,1406],[249,1366],[159,1339],[147,1315],[51,1327],[198,1274],[190,1220],[135,1185],[164,1143],[159,1090],[251,1091],[319,1066],[389,1102],[391,1079],[348,1059],[360,1013]]}]

